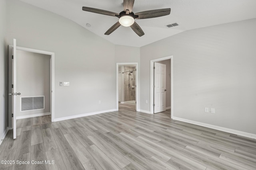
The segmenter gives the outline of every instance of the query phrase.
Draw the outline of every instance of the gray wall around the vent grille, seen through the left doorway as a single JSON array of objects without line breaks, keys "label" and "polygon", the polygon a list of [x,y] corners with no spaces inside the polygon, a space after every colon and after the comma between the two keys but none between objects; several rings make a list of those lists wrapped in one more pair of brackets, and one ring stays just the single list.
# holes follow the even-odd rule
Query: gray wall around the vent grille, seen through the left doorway
[{"label": "gray wall around the vent grille, seen through the left doorway", "polygon": [[[50,55],[17,50],[17,116],[50,112]],[[45,96],[45,109],[20,111],[20,98]]]}]

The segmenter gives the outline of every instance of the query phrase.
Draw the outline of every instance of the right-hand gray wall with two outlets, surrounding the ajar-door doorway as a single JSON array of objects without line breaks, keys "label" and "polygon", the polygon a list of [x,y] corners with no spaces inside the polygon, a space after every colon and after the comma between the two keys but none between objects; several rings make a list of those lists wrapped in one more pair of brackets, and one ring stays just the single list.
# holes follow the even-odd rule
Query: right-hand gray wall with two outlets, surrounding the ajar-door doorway
[{"label": "right-hand gray wall with two outlets, surrounding the ajar-door doorway", "polygon": [[141,47],[141,109],[150,110],[144,102],[150,99],[150,60],[173,55],[175,117],[256,134],[255,30],[256,19],[245,20]]}]

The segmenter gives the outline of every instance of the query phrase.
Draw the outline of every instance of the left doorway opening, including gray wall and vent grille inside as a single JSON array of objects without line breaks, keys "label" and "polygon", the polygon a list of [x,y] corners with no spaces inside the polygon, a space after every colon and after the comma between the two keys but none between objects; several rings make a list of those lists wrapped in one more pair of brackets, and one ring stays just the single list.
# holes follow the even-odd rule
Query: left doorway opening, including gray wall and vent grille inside
[{"label": "left doorway opening, including gray wall and vent grille inside", "polygon": [[50,55],[17,50],[16,119],[50,115]]}]

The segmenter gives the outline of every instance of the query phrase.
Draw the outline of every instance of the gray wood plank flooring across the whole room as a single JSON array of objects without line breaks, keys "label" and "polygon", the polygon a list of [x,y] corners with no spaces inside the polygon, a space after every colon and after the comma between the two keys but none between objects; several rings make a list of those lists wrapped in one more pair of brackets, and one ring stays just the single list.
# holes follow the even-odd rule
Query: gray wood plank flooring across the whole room
[{"label": "gray wood plank flooring across the whole room", "polygon": [[[120,104],[119,111],[50,122],[17,120],[0,146],[0,170],[256,170],[256,140]],[[54,164],[31,164],[31,161]]]}]

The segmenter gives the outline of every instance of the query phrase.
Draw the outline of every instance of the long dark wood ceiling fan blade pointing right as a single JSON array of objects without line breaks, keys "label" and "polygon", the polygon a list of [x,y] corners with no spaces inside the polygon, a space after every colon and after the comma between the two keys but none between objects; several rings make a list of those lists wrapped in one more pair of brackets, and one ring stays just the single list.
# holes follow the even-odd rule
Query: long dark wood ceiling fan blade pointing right
[{"label": "long dark wood ceiling fan blade pointing right", "polygon": [[135,16],[138,16],[136,19],[147,19],[147,18],[156,18],[161,16],[167,16],[171,13],[171,8],[165,8],[160,10],[150,10],[144,12],[138,12]]}]

